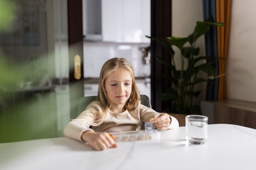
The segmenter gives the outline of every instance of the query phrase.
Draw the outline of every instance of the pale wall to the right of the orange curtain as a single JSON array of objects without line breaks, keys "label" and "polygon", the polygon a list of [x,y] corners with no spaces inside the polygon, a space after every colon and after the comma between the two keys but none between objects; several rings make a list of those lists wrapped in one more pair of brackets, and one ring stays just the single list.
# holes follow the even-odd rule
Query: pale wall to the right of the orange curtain
[{"label": "pale wall to the right of the orange curtain", "polygon": [[256,1],[232,1],[227,97],[256,102]]}]

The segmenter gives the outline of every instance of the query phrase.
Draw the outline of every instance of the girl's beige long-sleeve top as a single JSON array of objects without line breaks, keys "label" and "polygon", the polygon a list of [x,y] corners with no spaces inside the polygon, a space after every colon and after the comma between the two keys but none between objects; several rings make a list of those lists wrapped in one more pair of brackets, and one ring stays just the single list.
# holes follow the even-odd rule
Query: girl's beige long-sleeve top
[{"label": "girl's beige long-sleeve top", "polygon": [[[64,129],[64,135],[81,141],[81,135],[84,131],[96,132],[121,132],[121,131],[136,131],[140,130],[141,121],[149,122],[154,115],[160,114],[156,111],[139,104],[134,110],[125,110],[122,113],[113,113],[108,110],[106,118],[102,124],[92,126],[95,115],[90,113],[90,108],[100,111],[101,108],[97,103],[91,103],[77,118],[73,119],[67,124]],[[179,127],[179,122],[175,117],[171,117],[171,124],[169,129]],[[92,128],[90,128],[92,127]]]}]

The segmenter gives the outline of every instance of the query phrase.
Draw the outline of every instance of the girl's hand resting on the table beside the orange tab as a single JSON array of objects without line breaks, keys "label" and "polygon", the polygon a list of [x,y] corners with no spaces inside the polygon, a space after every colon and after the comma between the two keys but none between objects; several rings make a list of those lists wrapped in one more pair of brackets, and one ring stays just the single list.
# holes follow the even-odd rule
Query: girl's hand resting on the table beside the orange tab
[{"label": "girl's hand resting on the table beside the orange tab", "polygon": [[88,142],[95,150],[106,150],[107,148],[116,148],[115,141],[109,136],[107,132],[83,132],[83,141]]}]

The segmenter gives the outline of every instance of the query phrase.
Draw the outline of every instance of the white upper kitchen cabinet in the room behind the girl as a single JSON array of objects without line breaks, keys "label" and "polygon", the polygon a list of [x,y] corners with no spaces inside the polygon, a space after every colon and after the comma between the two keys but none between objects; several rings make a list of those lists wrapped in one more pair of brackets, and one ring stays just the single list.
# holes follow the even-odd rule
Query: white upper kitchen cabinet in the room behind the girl
[{"label": "white upper kitchen cabinet in the room behind the girl", "polygon": [[102,0],[102,41],[150,43],[150,0]]}]

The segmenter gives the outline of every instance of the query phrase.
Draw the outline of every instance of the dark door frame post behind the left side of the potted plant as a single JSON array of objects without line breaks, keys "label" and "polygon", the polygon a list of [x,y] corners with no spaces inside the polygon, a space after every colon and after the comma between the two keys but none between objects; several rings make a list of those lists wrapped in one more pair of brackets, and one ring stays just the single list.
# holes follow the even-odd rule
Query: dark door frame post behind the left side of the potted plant
[{"label": "dark door frame post behind the left side of the potted plant", "polygon": [[[165,38],[172,36],[172,0],[151,0],[151,36]],[[159,100],[159,95],[170,86],[163,75],[170,71],[158,62],[154,55],[170,61],[170,56],[163,46],[151,41],[151,103],[154,110],[162,112],[170,107],[170,101]]]}]

